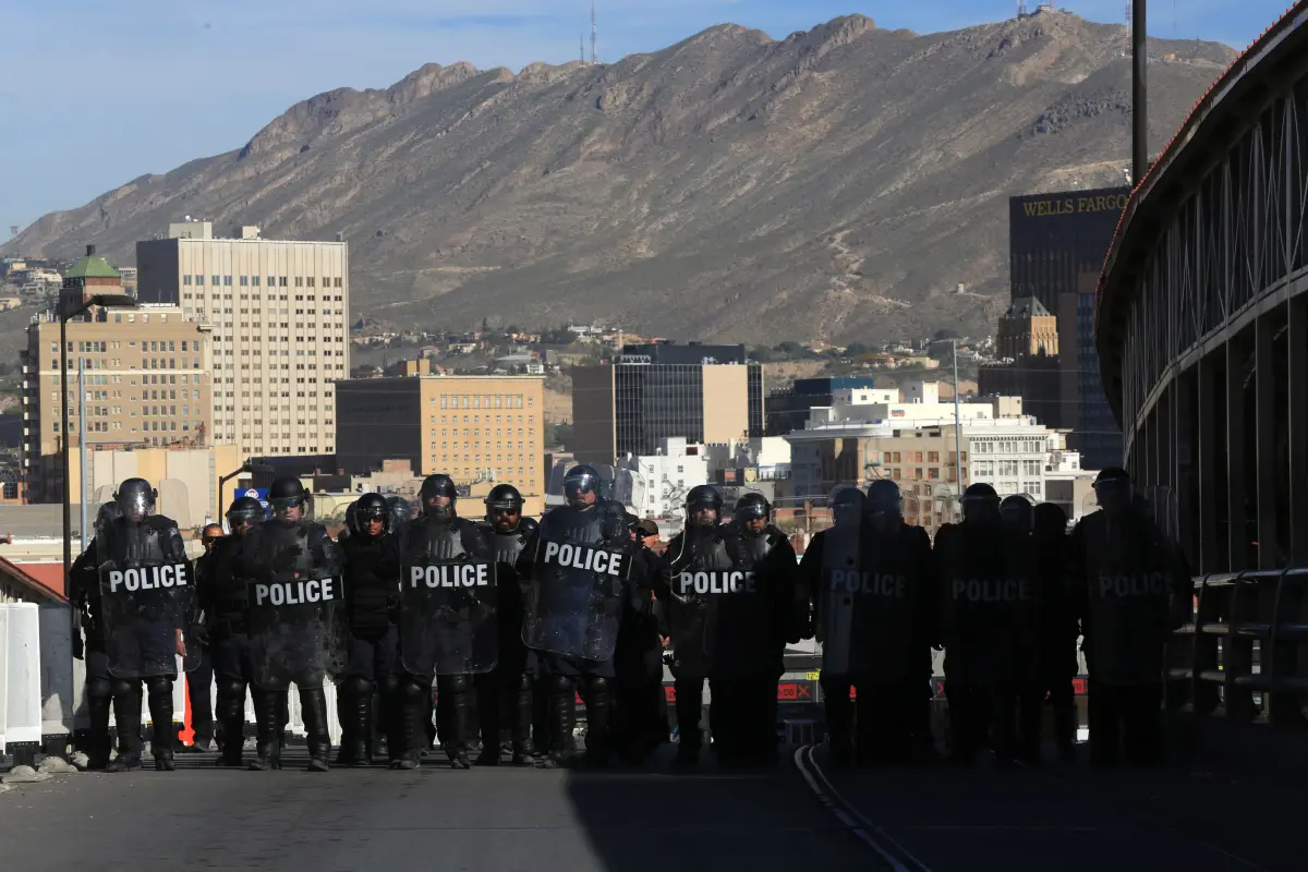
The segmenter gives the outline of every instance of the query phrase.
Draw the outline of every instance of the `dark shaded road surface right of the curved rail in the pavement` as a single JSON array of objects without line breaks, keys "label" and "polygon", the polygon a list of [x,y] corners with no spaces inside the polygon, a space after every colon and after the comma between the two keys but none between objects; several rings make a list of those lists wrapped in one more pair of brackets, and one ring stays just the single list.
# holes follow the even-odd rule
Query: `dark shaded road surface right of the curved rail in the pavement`
[{"label": "dark shaded road surface right of the curved rail in the pavement", "polygon": [[1308,786],[1216,773],[1076,769],[800,770],[896,872],[1308,868]]}]

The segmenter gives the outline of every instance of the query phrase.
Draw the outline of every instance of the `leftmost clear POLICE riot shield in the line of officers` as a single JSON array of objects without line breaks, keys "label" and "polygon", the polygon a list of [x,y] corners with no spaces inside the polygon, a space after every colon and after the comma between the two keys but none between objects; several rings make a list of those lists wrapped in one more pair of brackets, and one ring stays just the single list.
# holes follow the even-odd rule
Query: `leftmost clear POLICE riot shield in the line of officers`
[{"label": "leftmost clear POLICE riot shield in the line of officers", "polygon": [[177,528],[118,519],[97,533],[95,554],[93,608],[110,675],[175,676],[199,667],[200,645],[191,638],[195,571]]}]

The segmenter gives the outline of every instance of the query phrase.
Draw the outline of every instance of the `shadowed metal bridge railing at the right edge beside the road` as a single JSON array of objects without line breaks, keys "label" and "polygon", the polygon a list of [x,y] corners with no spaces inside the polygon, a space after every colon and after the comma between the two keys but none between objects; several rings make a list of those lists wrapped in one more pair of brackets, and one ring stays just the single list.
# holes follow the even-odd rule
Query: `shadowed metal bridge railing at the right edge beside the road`
[{"label": "shadowed metal bridge railing at the right edge beside the road", "polygon": [[1171,710],[1308,726],[1308,569],[1196,578],[1192,621],[1168,659]]}]

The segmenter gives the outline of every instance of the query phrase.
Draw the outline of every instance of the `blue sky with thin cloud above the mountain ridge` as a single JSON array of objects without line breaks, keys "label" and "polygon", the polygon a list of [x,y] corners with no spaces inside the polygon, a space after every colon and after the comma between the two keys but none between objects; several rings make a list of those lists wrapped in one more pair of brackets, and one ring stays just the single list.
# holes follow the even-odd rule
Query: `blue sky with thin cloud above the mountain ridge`
[{"label": "blue sky with thin cloud above the mountain ridge", "polygon": [[[1035,5],[1035,0],[1028,0]],[[1291,0],[1152,0],[1150,33],[1243,48]],[[0,0],[0,239],[145,173],[243,145],[292,103],[428,61],[577,56],[589,0]],[[1124,0],[1058,4],[1122,21]],[[1015,0],[599,0],[613,61],[732,21],[774,38],[861,12],[952,30]]]}]

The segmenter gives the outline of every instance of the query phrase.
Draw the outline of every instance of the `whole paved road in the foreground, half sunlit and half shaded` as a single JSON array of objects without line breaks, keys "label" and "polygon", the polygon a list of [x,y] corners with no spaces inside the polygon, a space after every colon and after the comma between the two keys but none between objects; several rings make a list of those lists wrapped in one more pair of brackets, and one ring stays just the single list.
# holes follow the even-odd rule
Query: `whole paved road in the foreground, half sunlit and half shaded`
[{"label": "whole paved road in the foreground, half sunlit and half shaded", "polygon": [[[794,753],[794,749],[791,749]],[[670,752],[670,749],[668,749]],[[289,761],[302,762],[302,752]],[[4,869],[1301,872],[1308,788],[946,767],[78,774],[0,796]]]}]

